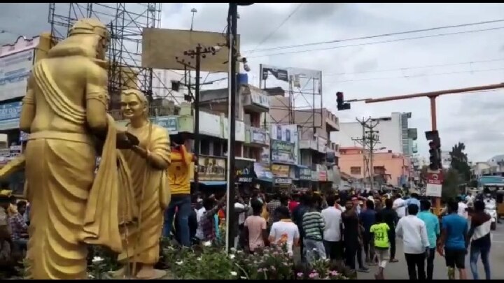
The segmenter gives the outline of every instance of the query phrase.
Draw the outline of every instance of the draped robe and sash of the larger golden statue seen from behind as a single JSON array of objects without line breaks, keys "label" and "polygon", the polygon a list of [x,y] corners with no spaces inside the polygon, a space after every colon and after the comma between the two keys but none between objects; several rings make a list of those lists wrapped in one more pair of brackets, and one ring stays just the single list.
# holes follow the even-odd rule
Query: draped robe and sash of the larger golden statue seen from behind
[{"label": "draped robe and sash of the larger golden statue seen from behind", "polygon": [[[86,129],[85,108],[72,103],[59,89],[47,64],[42,60],[33,69],[36,99],[45,100],[59,119]],[[86,244],[122,251],[119,224],[131,222],[137,211],[134,205],[120,211],[125,206],[119,203],[131,202],[133,196],[127,168],[116,150],[114,122],[110,116],[108,119],[102,166],[96,177],[97,152],[91,133],[35,131],[29,136],[25,151],[31,203],[27,257],[34,279],[85,279]]]}]

